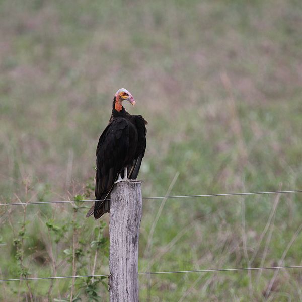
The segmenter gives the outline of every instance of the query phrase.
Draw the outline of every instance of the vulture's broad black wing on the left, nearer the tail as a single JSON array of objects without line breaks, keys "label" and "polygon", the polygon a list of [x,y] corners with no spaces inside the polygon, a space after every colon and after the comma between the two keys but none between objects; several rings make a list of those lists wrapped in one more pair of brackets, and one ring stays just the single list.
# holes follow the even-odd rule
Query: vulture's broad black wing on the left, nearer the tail
[{"label": "vulture's broad black wing on the left, nearer the tail", "polygon": [[97,146],[96,199],[101,199],[123,168],[129,148],[129,122],[115,118],[102,133]]}]

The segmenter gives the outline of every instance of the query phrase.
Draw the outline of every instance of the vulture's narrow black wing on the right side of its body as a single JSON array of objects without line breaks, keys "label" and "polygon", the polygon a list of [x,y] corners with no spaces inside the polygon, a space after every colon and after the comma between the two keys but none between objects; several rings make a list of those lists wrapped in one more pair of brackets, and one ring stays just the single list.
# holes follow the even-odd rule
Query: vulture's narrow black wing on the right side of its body
[{"label": "vulture's narrow black wing on the right side of its body", "polygon": [[142,158],[144,157],[147,141],[146,141],[146,125],[147,121],[141,115],[135,115],[135,125],[137,129],[137,148],[134,160],[131,165],[127,167],[128,178],[136,179]]}]

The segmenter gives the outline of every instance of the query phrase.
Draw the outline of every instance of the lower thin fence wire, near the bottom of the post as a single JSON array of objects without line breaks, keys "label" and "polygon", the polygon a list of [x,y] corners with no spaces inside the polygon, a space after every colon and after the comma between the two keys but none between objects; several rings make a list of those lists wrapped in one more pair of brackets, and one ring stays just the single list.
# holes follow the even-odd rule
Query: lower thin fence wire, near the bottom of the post
[{"label": "lower thin fence wire, near the bottom of the post", "polygon": [[[187,271],[167,271],[167,272],[145,272],[138,275],[159,275],[159,274],[180,274],[180,273],[210,273],[210,272],[229,272],[229,271],[252,271],[252,270],[268,270],[268,269],[290,269],[302,268],[302,265],[294,266],[276,266],[276,267],[243,267],[243,268],[224,268],[224,269],[200,269]],[[31,281],[31,280],[49,280],[49,279],[70,279],[70,278],[89,278],[89,277],[109,277],[109,274],[104,275],[83,275],[83,276],[61,276],[61,277],[41,277],[41,278],[20,278],[20,279],[0,279],[0,282],[9,281]]]}]

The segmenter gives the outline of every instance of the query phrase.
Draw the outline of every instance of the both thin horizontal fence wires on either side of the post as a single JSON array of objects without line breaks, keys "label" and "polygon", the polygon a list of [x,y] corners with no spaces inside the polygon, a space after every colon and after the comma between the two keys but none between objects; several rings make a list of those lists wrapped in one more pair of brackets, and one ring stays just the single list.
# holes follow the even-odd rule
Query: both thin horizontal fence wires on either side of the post
[{"label": "both thin horizontal fence wires on either side of the post", "polygon": [[[183,196],[161,196],[161,197],[144,197],[142,199],[164,199],[164,198],[193,198],[193,197],[217,197],[217,196],[244,196],[244,195],[260,195],[260,194],[285,194],[300,193],[302,190],[289,191],[268,191],[268,192],[243,192],[243,193],[222,193],[222,194],[202,194],[202,195],[183,195]],[[110,199],[104,199],[110,200]],[[74,203],[74,202],[90,202],[95,199],[88,200],[63,200],[63,201],[46,201],[46,202],[30,202],[30,203],[1,203],[0,206],[10,205],[42,205],[56,203]],[[102,200],[97,200],[102,201]],[[156,274],[180,274],[180,273],[210,273],[210,272],[234,272],[234,271],[255,271],[255,270],[276,270],[276,269],[299,269],[302,265],[294,266],[275,266],[275,267],[246,267],[246,268],[225,268],[225,269],[203,269],[203,270],[187,270],[187,271],[162,271],[162,272],[142,272],[138,275],[156,275]],[[0,279],[0,282],[10,281],[33,281],[33,280],[51,280],[51,279],[70,279],[70,278],[88,278],[88,277],[109,277],[109,274],[103,275],[77,275],[77,276],[56,276],[56,277],[37,277],[37,278],[19,278],[19,279]]]}]

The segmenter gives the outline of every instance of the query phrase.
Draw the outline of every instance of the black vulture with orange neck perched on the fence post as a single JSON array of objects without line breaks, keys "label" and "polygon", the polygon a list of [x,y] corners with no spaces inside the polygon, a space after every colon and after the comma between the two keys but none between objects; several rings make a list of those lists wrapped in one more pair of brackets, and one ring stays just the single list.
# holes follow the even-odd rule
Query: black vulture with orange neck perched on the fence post
[{"label": "black vulture with orange neck perched on the fence post", "polygon": [[121,88],[113,98],[109,124],[100,136],[97,146],[95,204],[86,217],[95,219],[110,211],[110,192],[121,179],[136,179],[146,149],[146,124],[141,115],[131,115],[123,107],[127,100],[135,101],[131,93]]}]

